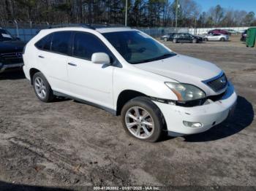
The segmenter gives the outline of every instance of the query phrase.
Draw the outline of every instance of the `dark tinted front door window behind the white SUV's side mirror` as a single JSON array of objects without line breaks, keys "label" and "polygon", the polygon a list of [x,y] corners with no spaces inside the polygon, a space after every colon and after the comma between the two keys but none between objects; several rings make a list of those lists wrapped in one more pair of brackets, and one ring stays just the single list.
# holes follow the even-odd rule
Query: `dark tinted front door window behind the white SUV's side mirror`
[{"label": "dark tinted front door window behind the white SUV's side mirror", "polygon": [[105,52],[110,58],[110,50],[93,34],[76,33],[74,36],[73,55],[91,61],[91,55],[95,52]]}]

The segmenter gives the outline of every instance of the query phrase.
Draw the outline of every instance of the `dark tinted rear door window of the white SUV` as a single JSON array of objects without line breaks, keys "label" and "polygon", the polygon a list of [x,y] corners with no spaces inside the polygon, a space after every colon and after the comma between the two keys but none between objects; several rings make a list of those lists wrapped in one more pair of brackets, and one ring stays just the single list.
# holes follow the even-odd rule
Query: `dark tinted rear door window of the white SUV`
[{"label": "dark tinted rear door window of the white SUV", "polygon": [[70,31],[61,31],[53,33],[51,51],[67,55],[69,52],[71,35],[72,32]]}]

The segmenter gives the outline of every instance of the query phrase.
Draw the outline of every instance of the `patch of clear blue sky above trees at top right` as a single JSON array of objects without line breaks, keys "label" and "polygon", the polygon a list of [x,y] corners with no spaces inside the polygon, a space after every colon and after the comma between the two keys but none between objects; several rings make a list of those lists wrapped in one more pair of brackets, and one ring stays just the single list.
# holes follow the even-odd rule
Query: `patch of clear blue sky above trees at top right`
[{"label": "patch of clear blue sky above trees at top right", "polygon": [[224,8],[240,9],[246,12],[253,11],[256,15],[256,0],[194,0],[202,7],[202,12],[207,12],[210,7],[219,4]]}]

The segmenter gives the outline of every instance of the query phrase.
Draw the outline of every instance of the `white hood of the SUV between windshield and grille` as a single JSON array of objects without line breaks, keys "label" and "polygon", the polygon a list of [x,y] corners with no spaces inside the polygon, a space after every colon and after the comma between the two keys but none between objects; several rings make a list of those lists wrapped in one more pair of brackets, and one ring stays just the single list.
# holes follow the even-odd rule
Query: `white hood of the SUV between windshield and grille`
[{"label": "white hood of the SUV between windshield and grille", "polygon": [[160,61],[134,65],[138,69],[150,71],[178,82],[197,85],[206,79],[217,77],[222,72],[215,64],[186,55],[175,55]]}]

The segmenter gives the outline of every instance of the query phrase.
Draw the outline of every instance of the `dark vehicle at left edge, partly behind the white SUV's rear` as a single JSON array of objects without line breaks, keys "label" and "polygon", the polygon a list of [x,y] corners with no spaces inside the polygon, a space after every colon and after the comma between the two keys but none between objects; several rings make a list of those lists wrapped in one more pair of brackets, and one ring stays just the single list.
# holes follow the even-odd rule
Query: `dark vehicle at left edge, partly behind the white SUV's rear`
[{"label": "dark vehicle at left edge, partly behind the white SUV's rear", "polygon": [[13,37],[7,30],[0,28],[0,73],[23,66],[23,47],[25,43]]}]

